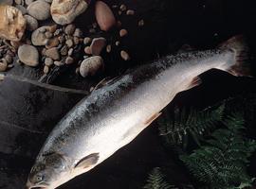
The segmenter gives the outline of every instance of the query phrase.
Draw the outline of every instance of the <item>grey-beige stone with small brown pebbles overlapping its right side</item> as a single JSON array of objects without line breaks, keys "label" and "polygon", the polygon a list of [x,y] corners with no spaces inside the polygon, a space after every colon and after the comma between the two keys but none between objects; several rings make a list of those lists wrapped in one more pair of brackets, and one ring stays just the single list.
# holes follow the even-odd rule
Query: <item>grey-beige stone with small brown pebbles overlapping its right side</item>
[{"label": "grey-beige stone with small brown pebbles overlapping its right side", "polygon": [[42,26],[33,31],[31,35],[31,41],[35,46],[43,46],[48,43],[48,39],[46,38],[46,30],[48,26]]}]

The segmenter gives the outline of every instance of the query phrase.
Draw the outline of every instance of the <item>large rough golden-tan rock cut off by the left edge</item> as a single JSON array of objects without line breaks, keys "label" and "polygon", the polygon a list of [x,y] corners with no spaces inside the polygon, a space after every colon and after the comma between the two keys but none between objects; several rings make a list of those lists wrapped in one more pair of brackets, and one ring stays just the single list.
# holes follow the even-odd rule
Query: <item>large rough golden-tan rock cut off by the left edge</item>
[{"label": "large rough golden-tan rock cut off by the left edge", "polygon": [[21,10],[11,6],[0,6],[0,38],[20,41],[26,29],[26,20]]}]

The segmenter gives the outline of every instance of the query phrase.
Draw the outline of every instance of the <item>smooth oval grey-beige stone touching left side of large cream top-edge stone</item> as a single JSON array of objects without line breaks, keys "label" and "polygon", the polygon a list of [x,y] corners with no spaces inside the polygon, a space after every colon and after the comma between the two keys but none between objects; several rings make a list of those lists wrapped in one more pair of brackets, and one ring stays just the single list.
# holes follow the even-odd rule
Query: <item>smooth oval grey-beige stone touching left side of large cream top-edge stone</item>
[{"label": "smooth oval grey-beige stone touching left side of large cream top-edge stone", "polygon": [[45,1],[35,1],[27,7],[27,12],[39,21],[45,21],[50,17],[50,5]]}]

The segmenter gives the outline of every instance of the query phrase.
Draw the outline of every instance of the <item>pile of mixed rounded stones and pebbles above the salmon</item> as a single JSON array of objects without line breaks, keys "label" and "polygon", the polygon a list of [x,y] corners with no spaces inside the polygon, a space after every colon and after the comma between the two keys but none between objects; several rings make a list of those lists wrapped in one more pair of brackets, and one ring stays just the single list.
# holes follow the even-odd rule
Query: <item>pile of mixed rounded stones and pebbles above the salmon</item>
[{"label": "pile of mixed rounded stones and pebbles above the salmon", "polygon": [[[87,9],[85,0],[4,0],[0,4],[0,72],[13,66],[15,55],[30,67],[43,67],[48,74],[55,66],[77,64],[76,73],[94,76],[104,68],[102,52],[117,53],[129,36],[122,28],[120,15],[135,15],[125,5],[111,8],[102,1],[95,3],[96,22],[79,28],[73,21]],[[114,11],[113,11],[114,10]],[[46,24],[47,23],[47,24]],[[143,26],[143,20],[138,22]],[[118,32],[116,32],[118,30]],[[114,32],[112,32],[114,31]],[[113,42],[113,35],[117,35]],[[116,49],[116,48],[115,48]],[[81,60],[81,55],[83,60]],[[127,50],[119,49],[123,60],[130,60]],[[43,62],[43,66],[42,66]]]}]

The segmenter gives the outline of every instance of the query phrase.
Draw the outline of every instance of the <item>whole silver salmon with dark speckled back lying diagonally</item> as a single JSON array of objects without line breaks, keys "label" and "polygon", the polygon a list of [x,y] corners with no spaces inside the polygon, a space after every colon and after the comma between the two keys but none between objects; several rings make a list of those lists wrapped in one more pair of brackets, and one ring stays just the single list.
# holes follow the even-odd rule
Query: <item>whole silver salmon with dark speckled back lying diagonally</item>
[{"label": "whole silver salmon with dark speckled back lying diagonally", "polygon": [[250,76],[247,45],[237,36],[214,50],[182,52],[137,67],[84,97],[52,130],[27,179],[27,189],[56,188],[133,141],[174,99],[220,69]]}]

